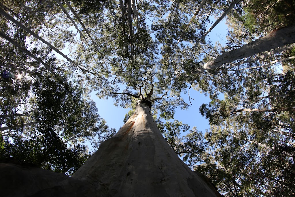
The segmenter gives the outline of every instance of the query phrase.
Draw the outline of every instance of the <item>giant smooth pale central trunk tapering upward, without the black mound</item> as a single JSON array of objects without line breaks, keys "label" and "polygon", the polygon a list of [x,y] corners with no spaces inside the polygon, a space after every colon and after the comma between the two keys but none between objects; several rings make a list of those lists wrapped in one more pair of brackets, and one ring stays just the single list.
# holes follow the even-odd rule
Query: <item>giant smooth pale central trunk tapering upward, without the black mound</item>
[{"label": "giant smooth pale central trunk tapering upward, without the black mound", "polygon": [[168,145],[142,101],[72,177],[93,184],[102,196],[219,196]]}]

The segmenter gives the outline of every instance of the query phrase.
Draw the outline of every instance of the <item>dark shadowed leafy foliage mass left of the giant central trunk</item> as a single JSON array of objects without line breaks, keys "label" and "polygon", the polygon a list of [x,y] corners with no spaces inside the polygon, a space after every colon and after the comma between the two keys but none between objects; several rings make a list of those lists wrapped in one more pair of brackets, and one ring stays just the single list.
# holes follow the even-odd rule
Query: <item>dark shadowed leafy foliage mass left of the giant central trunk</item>
[{"label": "dark shadowed leafy foliage mass left of the giant central trunk", "polygon": [[[9,109],[11,106],[6,102],[1,105],[1,120],[6,125],[26,121],[35,123],[2,133],[4,147],[0,159],[7,162],[13,159],[72,174],[90,156],[85,138],[97,147],[101,143],[96,140],[97,136],[108,133],[109,129],[96,113],[95,103],[82,98],[83,89],[65,81],[58,82],[45,74],[35,76],[30,88],[34,97],[27,94],[30,97],[27,106],[32,110],[27,109],[26,116],[12,115],[18,113],[14,108]],[[22,95],[12,96],[14,100],[16,97]]]}]

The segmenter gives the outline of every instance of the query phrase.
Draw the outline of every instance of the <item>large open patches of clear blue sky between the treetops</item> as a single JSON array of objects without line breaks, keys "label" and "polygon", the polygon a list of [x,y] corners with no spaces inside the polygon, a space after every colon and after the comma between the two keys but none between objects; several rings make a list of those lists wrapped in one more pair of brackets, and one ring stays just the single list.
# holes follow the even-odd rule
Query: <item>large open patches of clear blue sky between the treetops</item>
[{"label": "large open patches of clear blue sky between the treetops", "polygon": [[[215,21],[213,17],[210,17],[210,19]],[[210,26],[207,28],[209,29]],[[209,35],[207,35],[206,39],[208,39],[209,37],[213,44],[219,41],[222,45],[224,45],[226,43],[226,36],[227,26],[225,25],[225,19],[223,19],[216,27],[214,27]],[[118,129],[124,124],[124,115],[130,109],[116,107],[114,106],[112,98],[109,98],[108,100],[101,100],[95,94],[96,92],[91,93],[91,99],[96,102],[96,107],[98,108],[99,115],[101,116],[101,118],[104,118],[104,120],[106,120],[106,123],[109,125],[109,127],[115,128],[116,131],[118,131]],[[199,113],[199,107],[203,103],[208,104],[210,102],[210,99],[209,97],[205,97],[204,94],[201,94],[194,89],[190,90],[190,96],[194,99],[191,100],[192,105],[189,107],[188,110],[181,110],[180,108],[176,109],[174,118],[178,121],[182,121],[182,123],[184,124],[188,124],[190,128],[196,126],[199,131],[205,132],[206,129],[210,128],[209,121],[206,120]],[[189,103],[188,94],[182,94],[182,97],[187,103]]]}]

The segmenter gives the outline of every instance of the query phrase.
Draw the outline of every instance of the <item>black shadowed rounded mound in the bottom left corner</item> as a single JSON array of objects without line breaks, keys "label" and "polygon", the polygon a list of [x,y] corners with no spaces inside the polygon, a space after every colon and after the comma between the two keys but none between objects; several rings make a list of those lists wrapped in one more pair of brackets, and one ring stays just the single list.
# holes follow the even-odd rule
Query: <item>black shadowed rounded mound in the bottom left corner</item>
[{"label": "black shadowed rounded mound in the bottom left corner", "polygon": [[3,197],[75,197],[95,196],[91,184],[30,166],[0,164],[0,191]]}]

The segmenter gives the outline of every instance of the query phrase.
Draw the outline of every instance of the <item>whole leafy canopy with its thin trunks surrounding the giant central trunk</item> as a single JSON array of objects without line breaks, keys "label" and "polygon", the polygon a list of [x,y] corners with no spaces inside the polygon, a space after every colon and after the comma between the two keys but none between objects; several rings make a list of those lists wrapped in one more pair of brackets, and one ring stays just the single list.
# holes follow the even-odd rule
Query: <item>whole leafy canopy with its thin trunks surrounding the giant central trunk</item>
[{"label": "whole leafy canopy with its thin trunks surrounding the giant central trunk", "polygon": [[[72,174],[92,154],[86,141],[96,150],[115,133],[89,97],[96,91],[124,108],[150,102],[168,144],[225,196],[294,196],[294,8],[292,0],[1,1],[0,159]],[[211,43],[222,19],[227,43]],[[211,99],[200,106],[206,133],[173,120],[192,89]]]}]

